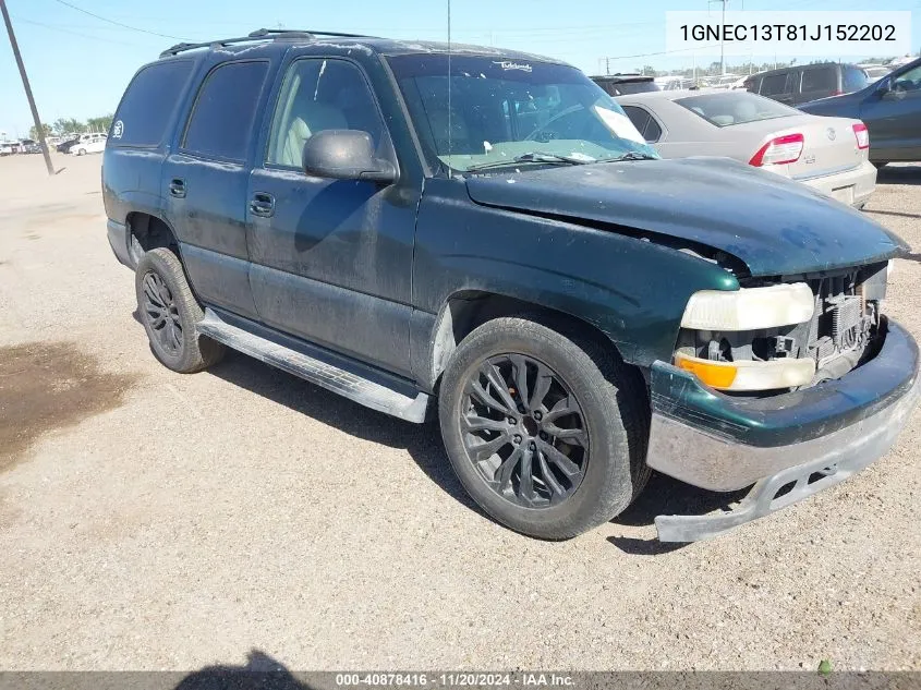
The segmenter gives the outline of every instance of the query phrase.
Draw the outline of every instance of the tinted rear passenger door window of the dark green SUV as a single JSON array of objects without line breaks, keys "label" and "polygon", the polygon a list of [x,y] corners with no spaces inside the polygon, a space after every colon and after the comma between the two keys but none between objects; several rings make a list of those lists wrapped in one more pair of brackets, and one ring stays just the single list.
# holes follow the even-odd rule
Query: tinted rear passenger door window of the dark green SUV
[{"label": "tinted rear passenger door window of the dark green SUV", "polygon": [[227,62],[205,78],[185,128],[187,152],[244,161],[268,62]]}]

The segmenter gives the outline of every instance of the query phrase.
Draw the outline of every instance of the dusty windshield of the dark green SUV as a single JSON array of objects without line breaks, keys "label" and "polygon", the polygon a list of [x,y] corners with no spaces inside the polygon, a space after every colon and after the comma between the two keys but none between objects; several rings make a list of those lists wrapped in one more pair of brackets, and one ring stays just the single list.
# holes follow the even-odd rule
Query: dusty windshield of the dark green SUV
[{"label": "dusty windshield of the dark green SUV", "polygon": [[[458,171],[657,157],[623,110],[579,70],[483,56],[389,58],[423,145]],[[450,99],[450,107],[448,106]],[[450,135],[449,135],[450,134]]]}]

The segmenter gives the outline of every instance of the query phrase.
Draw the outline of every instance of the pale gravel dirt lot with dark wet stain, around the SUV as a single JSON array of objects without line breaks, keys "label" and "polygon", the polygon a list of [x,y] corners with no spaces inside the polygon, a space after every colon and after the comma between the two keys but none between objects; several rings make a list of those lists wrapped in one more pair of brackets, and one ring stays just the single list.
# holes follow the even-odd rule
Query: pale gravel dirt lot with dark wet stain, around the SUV
[{"label": "pale gravel dirt lot with dark wet stain, around the SUV", "polygon": [[[435,427],[243,355],[182,376],[132,316],[100,158],[0,159],[0,668],[921,669],[921,419],[835,489],[674,548],[656,477],[567,543],[475,510]],[[921,247],[921,166],[870,213]],[[919,250],[921,251],[921,250]],[[887,311],[921,338],[921,254]]]}]

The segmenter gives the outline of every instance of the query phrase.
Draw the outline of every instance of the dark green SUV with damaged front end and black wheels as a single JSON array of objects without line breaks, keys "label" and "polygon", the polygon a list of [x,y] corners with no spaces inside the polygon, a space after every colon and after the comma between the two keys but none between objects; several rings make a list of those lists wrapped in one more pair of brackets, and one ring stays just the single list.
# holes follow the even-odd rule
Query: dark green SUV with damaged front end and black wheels
[{"label": "dark green SUV with damaged front end and black wheels", "polygon": [[466,491],[543,538],[611,519],[652,469],[754,484],[656,519],[713,536],[870,463],[921,391],[881,312],[900,240],[780,175],[661,159],[549,58],[181,44],[128,86],[102,192],[167,367],[230,347],[410,422],[437,398]]}]

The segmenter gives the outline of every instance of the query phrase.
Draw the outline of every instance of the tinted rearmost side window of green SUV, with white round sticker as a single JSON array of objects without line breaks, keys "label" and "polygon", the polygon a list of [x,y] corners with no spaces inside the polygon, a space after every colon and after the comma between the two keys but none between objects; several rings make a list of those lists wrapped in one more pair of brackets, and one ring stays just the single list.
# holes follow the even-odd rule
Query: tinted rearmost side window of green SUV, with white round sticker
[{"label": "tinted rearmost side window of green SUV, with white round sticker", "polygon": [[191,74],[191,60],[156,62],[141,70],[112,119],[111,144],[157,146],[162,142]]}]

